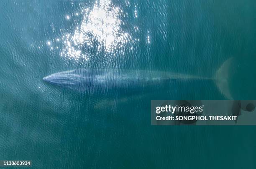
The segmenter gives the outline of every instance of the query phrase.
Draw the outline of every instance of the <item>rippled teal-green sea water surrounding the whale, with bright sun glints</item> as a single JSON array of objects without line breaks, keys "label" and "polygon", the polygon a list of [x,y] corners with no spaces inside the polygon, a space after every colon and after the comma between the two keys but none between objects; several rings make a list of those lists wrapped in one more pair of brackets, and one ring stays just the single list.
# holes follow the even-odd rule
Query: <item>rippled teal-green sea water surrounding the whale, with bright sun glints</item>
[{"label": "rippled teal-green sea water surrounding the whale, with bright sun glints", "polygon": [[214,77],[256,100],[255,0],[1,0],[0,160],[35,169],[255,169],[255,126],[151,126],[151,100],[225,100],[214,81],[131,93],[42,80],[75,68]]}]

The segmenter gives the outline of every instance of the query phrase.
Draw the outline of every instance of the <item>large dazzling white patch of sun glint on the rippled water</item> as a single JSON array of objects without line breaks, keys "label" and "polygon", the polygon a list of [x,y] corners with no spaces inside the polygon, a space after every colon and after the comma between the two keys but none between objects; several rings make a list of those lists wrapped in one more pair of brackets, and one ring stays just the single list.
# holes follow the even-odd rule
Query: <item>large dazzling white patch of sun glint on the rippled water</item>
[{"label": "large dazzling white patch of sun glint on the rippled water", "polygon": [[[120,19],[125,15],[123,10],[113,5],[110,0],[97,0],[91,10],[83,9],[81,14],[83,15],[81,24],[72,34],[67,33],[62,37],[64,41],[62,56],[88,59],[88,51],[92,48],[96,50],[95,54],[99,51],[124,52],[125,44],[132,41],[131,35],[121,28],[121,25],[124,25]],[[78,16],[78,13],[75,15]],[[70,19],[70,16],[67,15],[66,19]]]}]

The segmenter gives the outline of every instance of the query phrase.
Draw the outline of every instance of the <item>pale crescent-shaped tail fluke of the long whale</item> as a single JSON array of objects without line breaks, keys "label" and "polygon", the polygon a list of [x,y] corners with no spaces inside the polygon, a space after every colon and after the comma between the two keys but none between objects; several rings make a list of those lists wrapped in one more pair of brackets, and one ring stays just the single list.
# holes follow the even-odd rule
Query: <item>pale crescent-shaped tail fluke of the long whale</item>
[{"label": "pale crescent-shaped tail fluke of the long whale", "polygon": [[233,100],[228,80],[230,78],[230,66],[234,61],[234,57],[229,58],[225,61],[215,75],[212,77],[215,80],[216,86],[218,87],[219,91],[229,100]]}]

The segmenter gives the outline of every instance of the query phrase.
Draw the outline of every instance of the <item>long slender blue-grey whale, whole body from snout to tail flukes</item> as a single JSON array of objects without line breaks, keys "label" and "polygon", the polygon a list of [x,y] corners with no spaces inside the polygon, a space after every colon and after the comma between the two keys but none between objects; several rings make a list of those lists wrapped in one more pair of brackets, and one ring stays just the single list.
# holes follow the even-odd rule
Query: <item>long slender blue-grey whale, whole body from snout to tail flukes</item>
[{"label": "long slender blue-grey whale, whole body from snout to tail flukes", "polygon": [[79,68],[72,71],[54,73],[43,78],[44,81],[54,85],[71,88],[78,91],[102,89],[133,89],[146,86],[157,86],[172,79],[208,79],[217,84],[220,91],[229,99],[231,95],[228,88],[227,76],[232,58],[223,63],[215,76],[204,78],[164,71],[139,71]]}]

